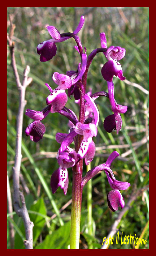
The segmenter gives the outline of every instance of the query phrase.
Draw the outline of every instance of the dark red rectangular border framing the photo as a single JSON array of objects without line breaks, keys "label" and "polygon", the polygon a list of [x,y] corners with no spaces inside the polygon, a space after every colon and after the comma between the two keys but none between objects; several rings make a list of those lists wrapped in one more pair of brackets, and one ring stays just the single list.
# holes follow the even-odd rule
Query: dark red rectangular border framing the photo
[{"label": "dark red rectangular border framing the photo", "polygon": [[[95,3],[98,4],[98,6],[95,6]],[[111,2],[107,1],[107,3],[105,3],[104,1],[98,1],[98,2],[93,2],[93,4],[91,4],[90,1],[88,1],[88,2],[87,1],[83,1],[83,2],[81,2],[81,1],[79,1],[79,2],[67,1],[66,2],[66,6],[64,6],[65,2],[62,1],[62,4],[61,4],[61,1],[59,1],[59,6],[61,6],[61,7],[71,7],[72,6],[73,7],[73,5],[76,5],[75,7],[82,7],[82,6],[83,7],[88,7],[88,6],[91,5],[92,7],[101,7],[101,6],[104,6],[104,7],[116,7],[116,6],[120,5],[120,6],[124,6],[124,7],[134,7],[134,6],[135,7],[138,7],[138,6],[139,7],[140,6],[141,7],[150,7],[149,8],[149,10],[150,10],[150,31],[151,31],[150,42],[151,42],[151,46],[152,46],[150,49],[151,49],[151,52],[153,53],[153,58],[151,58],[151,62],[150,62],[150,69],[151,69],[152,77],[151,77],[151,93],[149,95],[150,95],[151,105],[153,105],[151,107],[151,109],[150,109],[150,116],[152,117],[151,118],[151,122],[154,122],[155,121],[154,103],[156,101],[156,99],[155,99],[155,87],[156,87],[156,85],[154,83],[154,80],[155,80],[155,74],[156,74],[156,72],[155,72],[156,64],[152,63],[152,62],[154,62],[154,60],[155,60],[155,38],[154,38],[154,36],[155,36],[155,30],[156,30],[156,28],[155,28],[155,24],[156,24],[155,16],[156,16],[156,14],[155,14],[155,6],[154,6],[154,4],[152,5],[151,3],[152,2],[145,2],[145,4],[144,4],[143,1],[140,1],[140,2],[137,2],[137,6],[136,6],[136,2],[134,2],[134,1],[133,2],[132,1],[131,2],[125,2],[125,1],[117,2],[116,1],[116,2],[114,2],[114,4],[113,4],[112,1]],[[4,154],[5,149],[6,149],[6,152],[7,152],[7,143],[6,143],[7,139],[5,139],[5,136],[4,136],[4,133],[5,133],[4,131],[7,131],[7,110],[4,111],[5,110],[5,104],[7,102],[7,85],[6,85],[7,84],[7,71],[5,71],[7,69],[4,68],[5,67],[5,65],[4,65],[5,61],[4,60],[6,60],[6,62],[7,62],[7,58],[6,58],[7,57],[6,56],[7,55],[6,54],[7,48],[6,48],[6,52],[5,52],[3,50],[3,49],[5,49],[5,46],[3,48],[3,44],[4,45],[6,45],[6,44],[5,44],[5,40],[3,40],[3,39],[4,39],[4,36],[6,35],[6,30],[7,30],[7,7],[27,7],[27,6],[34,7],[34,6],[38,6],[40,4],[43,4],[43,3],[39,3],[39,1],[38,2],[37,1],[33,1],[33,2],[32,1],[26,1],[26,2],[7,1],[7,3],[6,3],[7,6],[5,6],[4,4],[5,3],[2,1],[2,3],[1,3],[1,63],[2,63],[2,66],[1,66],[1,78],[2,78],[2,82],[1,82],[1,117],[2,117],[2,119],[1,119],[1,140],[0,140],[1,141],[1,149],[2,149],[1,150],[1,181],[2,181],[1,182],[1,222],[0,222],[1,223],[1,252],[3,253],[3,250],[5,250],[5,253],[8,254],[10,252],[12,254],[13,251],[15,251],[15,254],[17,255],[16,251],[22,251],[22,255],[24,255],[24,254],[28,253],[28,252],[26,252],[27,250],[22,250],[22,249],[14,249],[14,250],[6,249],[7,248],[7,239],[6,239],[7,238],[7,228],[6,228],[7,221],[6,221],[6,223],[4,221],[5,218],[6,218],[5,217],[6,215],[4,213],[5,212],[4,209],[6,209],[6,211],[7,211],[7,200],[6,200],[6,198],[4,196],[4,192],[3,192],[3,184],[4,184],[3,180],[5,180],[5,177],[6,177],[4,170],[5,170],[5,166],[7,166],[7,163],[5,165],[5,159],[6,159],[6,162],[7,162],[7,156],[5,156],[5,154]],[[105,6],[105,4],[107,4],[108,6]],[[53,2],[49,1],[48,2],[48,6],[50,6],[50,5],[52,5],[52,7],[58,7],[58,5],[56,6],[56,2],[54,2],[54,1]],[[6,23],[5,23],[5,21],[6,21]],[[3,63],[3,61],[4,61],[4,63]],[[2,68],[3,68],[3,70],[2,70]],[[6,74],[5,74],[5,72],[6,72]],[[4,116],[6,116],[6,120],[5,120]],[[155,170],[154,163],[152,163],[153,159],[156,157],[155,156],[155,145],[154,145],[155,144],[154,141],[156,141],[155,140],[155,134],[154,134],[154,130],[155,130],[156,125],[155,124],[153,124],[153,125],[151,124],[150,127],[151,127],[151,134],[153,135],[153,138],[152,138],[153,143],[150,144],[150,153],[151,153],[150,166],[153,167],[153,168],[151,168],[151,172],[152,172],[151,175],[153,175],[153,179],[151,179],[151,183],[150,183],[151,184],[151,191],[152,191],[152,188],[155,188],[155,186],[156,186],[155,185],[155,173],[156,173],[156,170]],[[7,138],[7,136],[6,136],[6,138]],[[2,155],[2,153],[3,153],[3,155]],[[153,186],[152,186],[152,182],[153,182]],[[154,206],[155,206],[156,199],[155,199],[155,193],[151,193],[151,194],[152,195],[150,195],[150,197],[153,197],[153,200],[151,200],[153,207],[150,207],[150,209],[151,209],[151,213],[150,213],[150,218],[151,219],[150,219],[150,229],[149,229],[150,230],[150,234],[151,234],[151,236],[150,236],[150,249],[146,249],[146,250],[138,249],[139,251],[141,251],[141,254],[148,253],[149,250],[152,253],[152,249],[155,248],[155,244],[156,244],[156,241],[155,241],[155,228],[154,228],[155,227],[155,218],[154,217],[156,215]],[[6,208],[5,208],[5,206],[6,206]],[[37,252],[35,252],[35,254],[36,253],[38,254],[39,251],[41,253],[43,253],[43,250],[46,250],[46,251],[47,250],[48,251],[52,250],[53,251],[52,253],[58,253],[57,249],[38,249]],[[88,251],[89,249],[86,249],[86,250]],[[114,249],[114,250],[118,251],[119,249]],[[135,249],[131,249],[131,250],[136,251]],[[129,251],[129,249],[122,249],[121,253],[126,253],[126,255],[127,255],[127,253],[128,254],[129,253],[135,253],[135,252],[131,252],[131,250]],[[54,252],[54,251],[56,251],[56,252]],[[67,252],[68,254],[71,254],[71,253],[73,254],[74,253],[74,255],[77,255],[77,254],[80,253],[79,251],[84,251],[84,249],[83,250],[82,249],[80,249],[80,250],[60,249],[59,250],[60,253],[64,253],[62,251],[64,251],[65,253]],[[84,251],[84,252],[86,252],[86,251]],[[34,255],[34,250],[33,250],[33,252],[29,252],[29,253],[32,253]],[[109,250],[109,252],[108,251],[107,252],[103,252],[103,250],[98,250],[97,253],[98,254],[102,254],[102,255],[105,254],[105,253],[106,254],[109,253],[109,255],[110,255],[111,253],[114,254],[114,251],[112,249]],[[119,252],[117,252],[117,253],[119,253]],[[136,251],[136,253],[137,253],[137,251]]]}]

